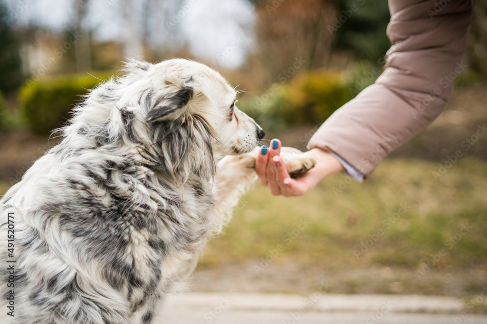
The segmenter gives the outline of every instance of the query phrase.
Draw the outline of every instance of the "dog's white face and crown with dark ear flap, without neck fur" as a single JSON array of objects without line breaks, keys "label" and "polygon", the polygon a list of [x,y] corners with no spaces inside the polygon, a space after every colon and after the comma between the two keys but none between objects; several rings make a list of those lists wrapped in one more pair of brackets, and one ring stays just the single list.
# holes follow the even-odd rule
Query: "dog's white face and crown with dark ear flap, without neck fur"
[{"label": "dog's white face and crown with dark ear flap, without neck fur", "polygon": [[148,124],[201,119],[219,155],[250,152],[264,136],[262,128],[237,108],[236,91],[212,68],[183,59],[142,66],[133,62],[128,68],[152,81]]}]

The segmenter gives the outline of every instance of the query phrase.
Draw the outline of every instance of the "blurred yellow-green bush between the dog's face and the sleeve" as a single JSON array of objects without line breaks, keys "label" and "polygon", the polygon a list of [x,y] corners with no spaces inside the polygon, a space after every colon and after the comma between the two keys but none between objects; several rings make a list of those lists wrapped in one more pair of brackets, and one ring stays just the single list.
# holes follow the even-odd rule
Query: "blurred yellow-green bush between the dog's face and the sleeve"
[{"label": "blurred yellow-green bush between the dog's face and the sleeve", "polygon": [[287,84],[274,83],[242,106],[261,126],[276,130],[323,122],[350,99],[350,82],[340,72],[315,70]]}]

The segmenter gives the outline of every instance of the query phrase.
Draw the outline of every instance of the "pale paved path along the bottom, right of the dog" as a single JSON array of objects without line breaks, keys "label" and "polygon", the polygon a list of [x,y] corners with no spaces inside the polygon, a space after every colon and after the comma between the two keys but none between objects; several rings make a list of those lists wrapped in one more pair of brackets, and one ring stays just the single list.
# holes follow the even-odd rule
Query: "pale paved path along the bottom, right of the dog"
[{"label": "pale paved path along the bottom, right of the dog", "polygon": [[462,311],[462,302],[452,297],[185,293],[175,296],[154,323],[487,324],[487,315]]}]

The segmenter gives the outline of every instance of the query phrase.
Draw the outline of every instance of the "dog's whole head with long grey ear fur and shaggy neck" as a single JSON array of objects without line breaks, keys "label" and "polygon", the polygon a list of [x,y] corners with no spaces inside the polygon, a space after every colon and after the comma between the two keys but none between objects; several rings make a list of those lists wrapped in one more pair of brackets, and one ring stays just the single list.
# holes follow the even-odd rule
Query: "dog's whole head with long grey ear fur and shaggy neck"
[{"label": "dog's whole head with long grey ear fur and shaggy neck", "polygon": [[143,147],[144,156],[183,178],[201,159],[214,165],[224,155],[250,152],[264,136],[212,68],[171,59],[130,61],[125,71],[88,95],[65,135],[89,137],[98,147]]}]

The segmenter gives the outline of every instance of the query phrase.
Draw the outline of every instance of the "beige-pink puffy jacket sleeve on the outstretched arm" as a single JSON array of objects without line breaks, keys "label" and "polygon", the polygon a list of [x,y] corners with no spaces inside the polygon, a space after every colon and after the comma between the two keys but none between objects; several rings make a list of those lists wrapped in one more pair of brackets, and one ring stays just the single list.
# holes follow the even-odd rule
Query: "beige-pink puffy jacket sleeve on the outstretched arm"
[{"label": "beige-pink puffy jacket sleeve on the outstretched arm", "polygon": [[368,177],[429,125],[466,68],[472,6],[472,0],[389,0],[393,45],[384,72],[321,125],[308,149],[328,149]]}]

